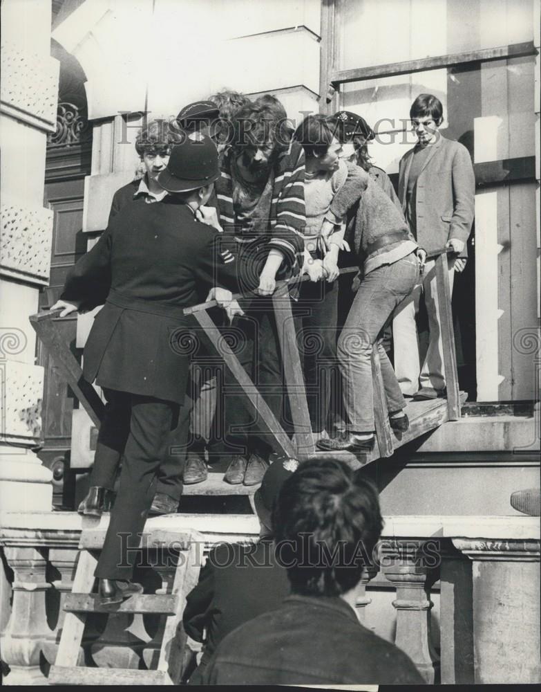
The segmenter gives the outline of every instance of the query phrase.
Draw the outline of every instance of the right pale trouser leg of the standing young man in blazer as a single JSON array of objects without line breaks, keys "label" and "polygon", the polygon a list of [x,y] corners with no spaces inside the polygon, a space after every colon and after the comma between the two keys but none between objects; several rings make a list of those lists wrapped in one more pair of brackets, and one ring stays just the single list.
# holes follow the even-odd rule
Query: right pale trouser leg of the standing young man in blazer
[{"label": "right pale trouser leg of the standing young man in blazer", "polygon": [[[453,260],[448,260],[448,278],[450,293],[453,295],[453,280],[455,271]],[[425,271],[434,270],[435,261],[427,262]],[[432,271],[432,276],[425,282],[425,304],[428,316],[428,350],[423,366],[421,367],[420,383],[421,388],[433,388],[441,391],[445,387],[445,367],[444,352],[442,345],[442,331],[439,321],[439,298],[436,289],[436,273]]]}]

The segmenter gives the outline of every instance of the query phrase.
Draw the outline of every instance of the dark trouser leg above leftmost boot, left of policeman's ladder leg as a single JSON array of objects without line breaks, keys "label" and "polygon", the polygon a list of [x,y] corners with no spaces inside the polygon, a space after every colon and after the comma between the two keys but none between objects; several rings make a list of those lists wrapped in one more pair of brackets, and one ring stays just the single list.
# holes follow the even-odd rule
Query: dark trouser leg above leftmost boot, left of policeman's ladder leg
[{"label": "dark trouser leg above leftmost boot, left of policeman's ladder leg", "polygon": [[113,490],[130,432],[130,395],[108,389],[104,389],[104,394],[104,418],[97,434],[90,485]]}]

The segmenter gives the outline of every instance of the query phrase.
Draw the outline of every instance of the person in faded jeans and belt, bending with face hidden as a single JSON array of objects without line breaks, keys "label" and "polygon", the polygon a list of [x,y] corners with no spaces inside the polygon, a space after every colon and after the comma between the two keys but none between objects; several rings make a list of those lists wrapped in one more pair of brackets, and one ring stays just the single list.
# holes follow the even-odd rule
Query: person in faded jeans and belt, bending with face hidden
[{"label": "person in faded jeans and belt, bending with face hidden", "polygon": [[[374,446],[372,349],[378,349],[390,426],[407,430],[406,401],[381,343],[395,308],[419,281],[426,253],[417,246],[397,207],[383,190],[369,181],[362,197],[351,239],[363,272],[361,286],[339,336],[337,356],[342,376],[348,426],[343,435],[321,439],[324,450],[363,452]],[[335,213],[350,208],[350,190],[341,190],[333,203]]]}]

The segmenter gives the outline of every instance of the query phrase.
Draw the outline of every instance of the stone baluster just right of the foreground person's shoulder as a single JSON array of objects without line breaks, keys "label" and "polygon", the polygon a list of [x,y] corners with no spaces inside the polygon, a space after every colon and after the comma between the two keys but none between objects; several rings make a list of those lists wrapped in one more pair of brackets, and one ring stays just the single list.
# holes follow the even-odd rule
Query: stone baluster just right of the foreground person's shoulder
[{"label": "stone baluster just right of the foreground person's shoulder", "polygon": [[[397,611],[395,644],[408,654],[428,684],[439,682],[439,659],[430,632],[430,587],[437,574],[426,560],[423,540],[386,540],[381,547],[381,567],[395,586]],[[431,555],[431,557],[434,557]]]}]

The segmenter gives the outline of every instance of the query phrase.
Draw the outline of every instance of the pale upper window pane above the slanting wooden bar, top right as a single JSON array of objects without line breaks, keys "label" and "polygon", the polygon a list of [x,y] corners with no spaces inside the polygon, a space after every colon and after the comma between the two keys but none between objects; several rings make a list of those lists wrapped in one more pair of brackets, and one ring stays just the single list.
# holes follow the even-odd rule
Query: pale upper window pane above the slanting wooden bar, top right
[{"label": "pale upper window pane above the slanting wooden bar, top right", "polygon": [[336,1],[341,70],[533,40],[533,0]]}]

